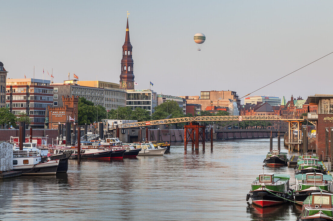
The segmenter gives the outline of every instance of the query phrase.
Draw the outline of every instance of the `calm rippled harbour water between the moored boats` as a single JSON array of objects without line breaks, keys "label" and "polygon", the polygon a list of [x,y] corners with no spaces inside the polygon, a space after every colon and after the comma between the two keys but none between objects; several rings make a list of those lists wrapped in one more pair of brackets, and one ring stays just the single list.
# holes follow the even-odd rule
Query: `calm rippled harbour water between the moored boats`
[{"label": "calm rippled harbour water between the moored boats", "polygon": [[[268,150],[269,139],[251,139],[214,142],[212,152],[177,143],[164,156],[70,160],[67,174],[0,181],[0,220],[296,220],[300,206],[245,201]],[[265,171],[294,182],[291,168]]]}]

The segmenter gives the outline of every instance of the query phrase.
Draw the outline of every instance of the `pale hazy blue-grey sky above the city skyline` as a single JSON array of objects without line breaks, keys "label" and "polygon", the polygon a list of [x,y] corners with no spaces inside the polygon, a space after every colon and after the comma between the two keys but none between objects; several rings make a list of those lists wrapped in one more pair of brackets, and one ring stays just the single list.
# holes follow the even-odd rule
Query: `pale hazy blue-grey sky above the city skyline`
[{"label": "pale hazy blue-grey sky above the city skyline", "polygon": [[[333,51],[333,1],[4,1],[0,61],[8,78],[119,83],[129,11],[136,89],[240,97]],[[195,33],[206,41],[197,51]],[[333,94],[333,54],[251,94]],[[241,103],[243,103],[242,99]]]}]

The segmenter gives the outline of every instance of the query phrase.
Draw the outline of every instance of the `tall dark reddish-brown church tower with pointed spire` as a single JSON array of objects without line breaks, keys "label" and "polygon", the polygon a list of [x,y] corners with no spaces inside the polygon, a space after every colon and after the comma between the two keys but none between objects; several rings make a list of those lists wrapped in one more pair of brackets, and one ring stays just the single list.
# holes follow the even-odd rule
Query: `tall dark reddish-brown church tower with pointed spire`
[{"label": "tall dark reddish-brown church tower with pointed spire", "polygon": [[120,88],[125,90],[134,90],[134,74],[133,74],[133,59],[132,59],[132,44],[130,42],[130,31],[128,28],[128,17],[126,26],[125,43],[123,45],[123,59],[120,74]]}]

